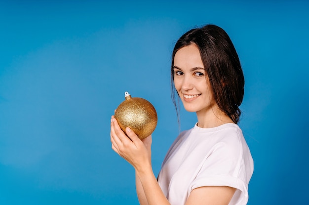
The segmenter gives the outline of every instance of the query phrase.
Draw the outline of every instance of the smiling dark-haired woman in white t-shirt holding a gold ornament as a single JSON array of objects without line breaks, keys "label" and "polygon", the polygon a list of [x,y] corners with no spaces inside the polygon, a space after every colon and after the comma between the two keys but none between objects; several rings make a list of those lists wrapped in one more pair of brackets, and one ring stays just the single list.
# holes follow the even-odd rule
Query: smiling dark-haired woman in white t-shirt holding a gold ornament
[{"label": "smiling dark-haired woman in white t-shirt holding a gold ornament", "polygon": [[244,77],[228,34],[207,25],[181,36],[171,78],[185,109],[198,121],[176,138],[158,179],[151,165],[152,137],[141,141],[126,128],[128,138],[111,118],[112,148],[135,168],[140,204],[246,205],[253,160],[237,125]]}]

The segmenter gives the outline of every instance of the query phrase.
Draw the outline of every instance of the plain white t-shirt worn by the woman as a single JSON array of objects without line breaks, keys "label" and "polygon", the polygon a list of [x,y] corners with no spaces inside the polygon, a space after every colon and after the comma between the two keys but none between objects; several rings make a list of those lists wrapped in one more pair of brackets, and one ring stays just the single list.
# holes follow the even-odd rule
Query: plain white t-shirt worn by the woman
[{"label": "plain white t-shirt worn by the woman", "polygon": [[195,126],[182,132],[168,150],[158,183],[171,205],[185,205],[195,188],[236,188],[229,205],[246,205],[253,159],[238,125]]}]

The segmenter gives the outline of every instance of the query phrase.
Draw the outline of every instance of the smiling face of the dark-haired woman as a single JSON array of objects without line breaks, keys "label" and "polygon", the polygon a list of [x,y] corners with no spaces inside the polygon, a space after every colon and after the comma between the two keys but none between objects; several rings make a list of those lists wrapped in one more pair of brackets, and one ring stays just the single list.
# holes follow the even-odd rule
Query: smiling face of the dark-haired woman
[{"label": "smiling face of the dark-haired woman", "polygon": [[216,105],[209,78],[195,44],[178,50],[174,57],[174,85],[188,112],[207,112]]}]

